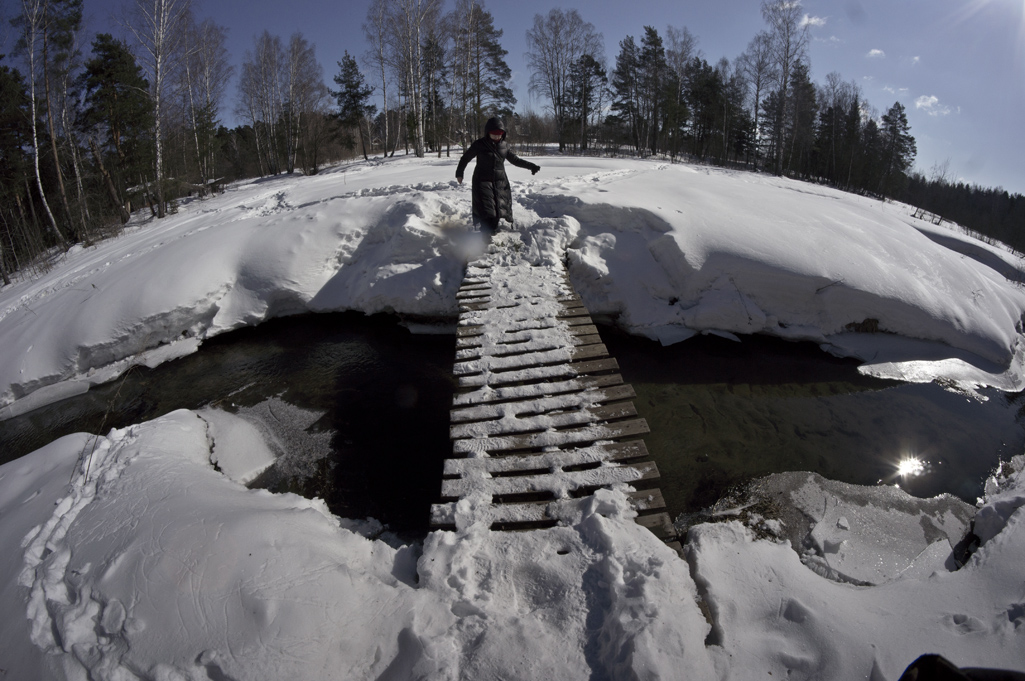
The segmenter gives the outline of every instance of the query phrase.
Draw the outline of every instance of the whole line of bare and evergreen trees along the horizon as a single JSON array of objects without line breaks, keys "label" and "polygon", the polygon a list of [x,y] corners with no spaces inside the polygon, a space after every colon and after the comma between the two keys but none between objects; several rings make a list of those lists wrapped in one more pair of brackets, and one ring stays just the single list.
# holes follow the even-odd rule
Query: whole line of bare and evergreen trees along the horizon
[{"label": "whole line of bare and evergreen trees along the horizon", "polygon": [[[371,0],[367,49],[344,53],[336,89],[298,33],[255,36],[236,69],[227,30],[197,21],[189,0],[127,0],[122,37],[97,35],[88,56],[83,0],[19,2],[13,53],[0,56],[5,281],[41,254],[116,233],[133,210],[162,217],[227,181],[312,174],[354,155],[450,154],[494,115],[527,148],[785,174],[917,202],[1010,243],[1025,209],[1018,195],[911,172],[903,106],[879,115],[836,73],[813,83],[808,25],[789,0],[765,0],[765,30],[715,64],[670,26],[625,37],[610,65],[604,37],[576,10],[538,14],[527,65],[544,108],[521,114],[503,32],[483,0],[447,11],[443,0]],[[233,76],[229,129],[220,112]]]}]

